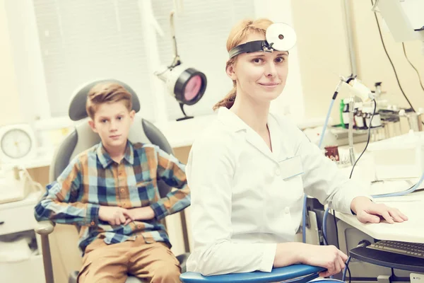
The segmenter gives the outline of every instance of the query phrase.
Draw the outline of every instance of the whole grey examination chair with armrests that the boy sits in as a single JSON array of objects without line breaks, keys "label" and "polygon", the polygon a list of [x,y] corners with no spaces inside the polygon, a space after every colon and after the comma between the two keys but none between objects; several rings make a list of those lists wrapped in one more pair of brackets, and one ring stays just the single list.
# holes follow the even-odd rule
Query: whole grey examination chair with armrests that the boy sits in
[{"label": "whole grey examination chair with armrests that the boy sits in", "polygon": [[[112,81],[121,84],[129,91],[132,95],[132,104],[133,110],[139,112],[140,110],[140,102],[136,93],[133,89],[127,86],[125,83],[117,80],[101,80],[94,81],[93,83],[89,83],[84,86],[81,90],[79,90],[75,96],[73,96],[73,100],[71,101],[71,105],[69,106],[69,117],[73,121],[79,121],[86,117],[88,117],[86,113],[86,98],[88,91],[90,88],[95,86],[96,83],[104,82],[104,81]],[[143,142],[149,144],[155,144],[163,149],[168,154],[172,154],[172,148],[168,143],[165,136],[160,132],[158,128],[156,128],[151,122],[141,118],[139,115],[135,115],[134,124],[132,125],[129,131],[129,140],[132,142]],[[69,164],[69,161],[76,156],[78,153],[89,149],[91,146],[98,144],[100,142],[100,137],[98,134],[95,134],[88,125],[88,122],[81,122],[80,125],[75,127],[75,130],[71,132],[58,146],[54,157],[52,158],[52,164],[50,166],[49,171],[49,180],[56,180],[57,177],[64,171],[64,168]],[[163,180],[158,181],[158,188],[161,197],[165,197],[168,192],[170,192],[171,187],[169,187]],[[187,225],[185,222],[184,212],[181,212],[182,219],[182,231],[184,236],[184,250],[188,251],[188,238],[187,238]],[[163,221],[165,224],[165,221]],[[35,231],[41,235],[42,242],[42,255],[43,255],[43,263],[45,268],[45,279],[46,283],[53,283],[53,270],[52,270],[52,258],[50,254],[49,248],[49,233],[52,233],[54,229],[54,224],[52,221],[40,221],[37,224],[37,228]],[[78,227],[77,227],[78,229]],[[182,267],[182,272],[185,272],[185,262],[187,260],[188,253],[184,253],[182,255],[178,255],[177,259]],[[69,275],[69,283],[76,283],[76,278],[78,276],[78,271],[71,272]],[[141,279],[136,277],[129,276],[126,280],[127,283],[136,283],[143,282]]]}]

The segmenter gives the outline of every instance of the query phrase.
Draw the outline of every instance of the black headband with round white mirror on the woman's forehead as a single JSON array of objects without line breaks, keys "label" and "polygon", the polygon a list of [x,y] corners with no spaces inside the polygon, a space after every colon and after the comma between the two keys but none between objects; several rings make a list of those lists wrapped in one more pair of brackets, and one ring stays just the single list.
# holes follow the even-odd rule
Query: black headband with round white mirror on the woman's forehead
[{"label": "black headband with round white mirror on the woman's forehead", "polygon": [[273,52],[288,51],[296,43],[296,33],[290,25],[286,23],[273,23],[266,29],[266,40],[255,40],[233,47],[229,54],[230,59],[242,53],[251,52]]}]

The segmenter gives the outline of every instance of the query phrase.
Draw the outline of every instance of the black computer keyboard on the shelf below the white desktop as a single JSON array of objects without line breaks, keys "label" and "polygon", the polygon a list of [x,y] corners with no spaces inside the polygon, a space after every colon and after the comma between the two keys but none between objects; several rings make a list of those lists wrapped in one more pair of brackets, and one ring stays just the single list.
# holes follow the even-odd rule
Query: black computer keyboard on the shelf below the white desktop
[{"label": "black computer keyboard on the shelf below the white desktop", "polygon": [[406,243],[398,241],[378,241],[372,243],[367,248],[375,250],[384,250],[389,253],[399,253],[401,255],[409,255],[416,258],[424,259],[424,243]]}]

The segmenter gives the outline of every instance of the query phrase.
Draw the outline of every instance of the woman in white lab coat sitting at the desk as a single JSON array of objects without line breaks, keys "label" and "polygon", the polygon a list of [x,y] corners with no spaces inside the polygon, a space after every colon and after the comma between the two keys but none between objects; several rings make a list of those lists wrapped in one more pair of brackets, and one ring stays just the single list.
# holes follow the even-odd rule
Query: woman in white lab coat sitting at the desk
[{"label": "woman in white lab coat sitting at the desk", "polygon": [[407,219],[361,196],[292,122],[269,113],[285,86],[289,57],[254,52],[264,47],[271,24],[242,21],[228,37],[226,72],[234,87],[215,105],[218,117],[196,139],[187,163],[194,239],[188,271],[271,272],[304,263],[326,267],[323,277],[340,272],[348,257],[336,247],[294,242],[304,193],[364,223]]}]

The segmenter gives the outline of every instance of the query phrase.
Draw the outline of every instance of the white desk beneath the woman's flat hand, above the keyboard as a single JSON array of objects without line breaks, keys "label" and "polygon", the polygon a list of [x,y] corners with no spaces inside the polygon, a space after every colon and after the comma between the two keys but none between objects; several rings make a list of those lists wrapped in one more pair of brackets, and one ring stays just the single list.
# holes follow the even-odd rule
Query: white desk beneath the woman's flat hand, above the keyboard
[{"label": "white desk beneath the woman's flat hand, above the keyboard", "polygon": [[[397,183],[397,185],[396,185]],[[376,183],[370,188],[370,195],[406,190],[411,187],[406,182]],[[397,187],[397,189],[396,189]],[[396,207],[408,216],[408,221],[403,223],[388,224],[383,221],[379,224],[363,224],[356,216],[336,213],[339,247],[343,253],[355,248],[359,241],[365,239],[370,242],[374,239],[388,241],[404,241],[411,243],[424,243],[424,191],[420,190],[401,197],[383,197],[374,199],[375,202]],[[372,265],[360,260],[351,260],[349,267],[352,272],[353,282],[367,282],[376,277],[391,278],[391,282],[409,282],[410,271],[394,270],[396,277],[392,278],[391,268]],[[385,281],[384,282],[389,282]]]}]

